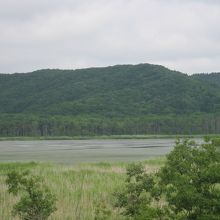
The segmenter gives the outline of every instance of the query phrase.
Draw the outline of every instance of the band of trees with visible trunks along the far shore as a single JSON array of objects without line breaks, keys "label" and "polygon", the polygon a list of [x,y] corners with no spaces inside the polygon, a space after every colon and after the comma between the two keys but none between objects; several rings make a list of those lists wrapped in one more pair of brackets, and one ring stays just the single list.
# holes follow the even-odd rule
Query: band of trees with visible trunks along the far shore
[{"label": "band of trees with visible trunks along the far shore", "polygon": [[220,115],[97,118],[4,114],[0,136],[81,136],[136,134],[218,134]]}]

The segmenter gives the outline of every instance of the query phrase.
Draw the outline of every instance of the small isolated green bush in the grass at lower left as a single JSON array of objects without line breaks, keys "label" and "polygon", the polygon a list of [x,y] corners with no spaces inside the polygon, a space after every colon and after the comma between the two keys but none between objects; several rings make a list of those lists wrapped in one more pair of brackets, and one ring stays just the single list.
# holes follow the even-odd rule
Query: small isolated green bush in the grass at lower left
[{"label": "small isolated green bush in the grass at lower left", "polygon": [[46,220],[56,210],[54,195],[42,185],[40,177],[30,175],[29,171],[12,171],[6,183],[9,193],[21,195],[13,207],[14,216],[24,220]]}]

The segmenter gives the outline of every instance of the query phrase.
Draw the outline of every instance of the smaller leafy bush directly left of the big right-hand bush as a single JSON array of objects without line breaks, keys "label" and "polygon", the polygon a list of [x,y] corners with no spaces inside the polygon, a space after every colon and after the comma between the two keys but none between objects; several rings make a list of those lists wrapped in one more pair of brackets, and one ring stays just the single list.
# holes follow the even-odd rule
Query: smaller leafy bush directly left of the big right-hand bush
[{"label": "smaller leafy bush directly left of the big right-hand bush", "polygon": [[123,208],[123,215],[134,219],[159,219],[160,189],[153,174],[146,174],[142,164],[131,164],[127,168],[125,187],[116,192],[116,207]]}]

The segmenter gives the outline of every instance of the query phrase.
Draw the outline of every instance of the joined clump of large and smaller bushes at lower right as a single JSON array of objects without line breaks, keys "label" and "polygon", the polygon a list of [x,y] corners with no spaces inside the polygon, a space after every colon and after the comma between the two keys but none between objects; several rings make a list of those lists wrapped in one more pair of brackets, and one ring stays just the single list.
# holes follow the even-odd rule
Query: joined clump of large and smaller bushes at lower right
[{"label": "joined clump of large and smaller bushes at lower right", "polygon": [[219,219],[220,146],[217,139],[202,145],[177,141],[165,165],[146,174],[140,164],[127,170],[125,189],[116,206],[134,219]]}]

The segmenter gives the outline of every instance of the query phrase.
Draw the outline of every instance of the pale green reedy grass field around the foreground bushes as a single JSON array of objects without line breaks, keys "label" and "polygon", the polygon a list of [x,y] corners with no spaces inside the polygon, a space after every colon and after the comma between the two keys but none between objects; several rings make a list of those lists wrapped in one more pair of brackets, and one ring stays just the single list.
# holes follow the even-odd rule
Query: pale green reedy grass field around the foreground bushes
[{"label": "pale green reedy grass field around the foreground bushes", "polygon": [[[144,161],[146,171],[154,172],[165,157]],[[123,187],[127,163],[90,163],[61,165],[47,163],[1,163],[0,164],[0,219],[11,220],[11,210],[17,198],[9,195],[5,184],[6,174],[12,170],[30,170],[42,176],[45,184],[57,197],[57,211],[52,220],[93,220],[97,207],[111,210],[109,219],[123,219],[119,210],[113,209],[113,192]]]}]

